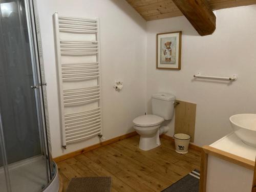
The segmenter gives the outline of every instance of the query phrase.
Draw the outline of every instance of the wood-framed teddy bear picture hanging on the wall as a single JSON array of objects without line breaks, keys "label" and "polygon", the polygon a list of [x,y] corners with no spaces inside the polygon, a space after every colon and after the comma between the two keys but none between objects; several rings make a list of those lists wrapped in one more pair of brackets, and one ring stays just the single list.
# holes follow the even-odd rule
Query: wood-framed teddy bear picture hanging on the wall
[{"label": "wood-framed teddy bear picture hanging on the wall", "polygon": [[157,69],[181,69],[181,31],[157,34]]}]

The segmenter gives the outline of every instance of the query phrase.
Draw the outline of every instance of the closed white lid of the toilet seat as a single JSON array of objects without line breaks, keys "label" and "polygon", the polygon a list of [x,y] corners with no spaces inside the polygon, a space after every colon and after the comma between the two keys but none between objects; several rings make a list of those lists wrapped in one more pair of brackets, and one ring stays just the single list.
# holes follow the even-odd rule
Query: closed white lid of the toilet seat
[{"label": "closed white lid of the toilet seat", "polygon": [[142,115],[136,117],[133,123],[137,126],[155,126],[162,123],[164,119],[157,115]]}]

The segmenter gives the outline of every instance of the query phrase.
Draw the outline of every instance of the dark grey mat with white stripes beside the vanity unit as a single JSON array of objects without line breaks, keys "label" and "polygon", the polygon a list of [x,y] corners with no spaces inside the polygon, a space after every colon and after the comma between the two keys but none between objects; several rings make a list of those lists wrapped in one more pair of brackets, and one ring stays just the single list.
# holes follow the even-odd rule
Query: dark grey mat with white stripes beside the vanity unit
[{"label": "dark grey mat with white stripes beside the vanity unit", "polygon": [[162,190],[162,192],[199,192],[199,180],[199,171],[193,170],[193,172]]}]

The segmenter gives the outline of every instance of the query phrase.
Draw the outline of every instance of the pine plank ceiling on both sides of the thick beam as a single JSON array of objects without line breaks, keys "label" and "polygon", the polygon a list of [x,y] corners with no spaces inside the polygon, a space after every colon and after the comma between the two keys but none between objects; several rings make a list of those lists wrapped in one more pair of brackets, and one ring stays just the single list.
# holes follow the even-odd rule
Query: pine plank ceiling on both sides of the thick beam
[{"label": "pine plank ceiling on both sides of the thick beam", "polygon": [[[183,15],[172,0],[126,0],[146,21]],[[256,0],[208,0],[210,9],[256,4]]]}]

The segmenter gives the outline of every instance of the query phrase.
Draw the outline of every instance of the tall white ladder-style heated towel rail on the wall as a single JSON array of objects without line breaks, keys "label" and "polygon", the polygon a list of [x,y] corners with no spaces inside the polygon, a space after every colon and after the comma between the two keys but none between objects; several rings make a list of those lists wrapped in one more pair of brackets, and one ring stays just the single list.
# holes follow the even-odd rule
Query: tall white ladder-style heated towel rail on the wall
[{"label": "tall white ladder-style heated towel rail on the wall", "polygon": [[54,14],[62,147],[102,136],[99,19]]}]

